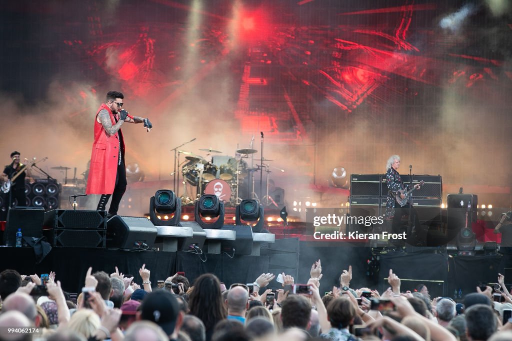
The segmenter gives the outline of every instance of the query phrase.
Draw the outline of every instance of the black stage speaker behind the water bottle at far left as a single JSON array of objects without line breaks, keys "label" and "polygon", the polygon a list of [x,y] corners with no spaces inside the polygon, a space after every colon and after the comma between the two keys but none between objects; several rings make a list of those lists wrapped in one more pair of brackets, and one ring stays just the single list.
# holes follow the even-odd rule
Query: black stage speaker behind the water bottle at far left
[{"label": "black stage speaker behind the water bottle at far left", "polygon": [[4,245],[16,245],[16,232],[18,229],[22,229],[24,237],[41,237],[44,215],[45,210],[38,207],[9,209],[4,232]]}]

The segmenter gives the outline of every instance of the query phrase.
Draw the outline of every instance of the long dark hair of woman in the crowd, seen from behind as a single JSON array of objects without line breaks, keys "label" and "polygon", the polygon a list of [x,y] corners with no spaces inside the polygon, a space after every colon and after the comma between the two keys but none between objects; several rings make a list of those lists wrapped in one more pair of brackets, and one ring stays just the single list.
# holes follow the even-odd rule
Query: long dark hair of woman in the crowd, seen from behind
[{"label": "long dark hair of woman in the crowd, seen from behind", "polygon": [[219,279],[214,274],[203,274],[194,282],[194,290],[188,300],[190,314],[203,321],[206,330],[227,316],[226,306],[222,302]]}]

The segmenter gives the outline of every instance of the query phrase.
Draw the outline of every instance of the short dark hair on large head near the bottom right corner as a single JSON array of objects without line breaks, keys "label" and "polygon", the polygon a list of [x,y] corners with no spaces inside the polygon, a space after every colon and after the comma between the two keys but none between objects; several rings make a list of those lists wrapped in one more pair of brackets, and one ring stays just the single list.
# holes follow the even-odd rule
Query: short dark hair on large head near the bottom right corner
[{"label": "short dark hair on large head near the bottom right corner", "polygon": [[496,331],[496,316],[485,304],[475,304],[465,312],[467,334],[474,340],[486,340]]}]

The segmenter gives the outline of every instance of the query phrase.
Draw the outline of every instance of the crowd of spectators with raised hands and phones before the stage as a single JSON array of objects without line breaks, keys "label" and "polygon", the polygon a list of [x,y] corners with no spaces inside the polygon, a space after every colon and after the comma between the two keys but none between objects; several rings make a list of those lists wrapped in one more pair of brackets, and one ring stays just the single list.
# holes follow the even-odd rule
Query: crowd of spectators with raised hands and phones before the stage
[{"label": "crowd of spectators with raised hands and phones before the stage", "polygon": [[75,297],[54,272],[40,278],[4,270],[0,340],[512,340],[512,296],[500,274],[495,287],[479,286],[461,303],[431,299],[424,285],[401,292],[392,269],[382,293],[352,288],[351,266],[321,295],[320,260],[306,284],[283,273],[274,291],[265,289],[275,279],[269,273],[228,287],[214,274],[193,283],[175,274],[157,285],[150,274],[142,265],[134,281],[117,267],[110,275],[89,268]]}]

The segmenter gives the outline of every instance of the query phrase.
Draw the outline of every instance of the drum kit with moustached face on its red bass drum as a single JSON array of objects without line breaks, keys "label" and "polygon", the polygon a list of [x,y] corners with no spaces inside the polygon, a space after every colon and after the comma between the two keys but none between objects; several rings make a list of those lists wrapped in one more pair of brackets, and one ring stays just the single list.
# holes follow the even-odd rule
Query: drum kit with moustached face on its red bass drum
[{"label": "drum kit with moustached face on its red bass drum", "polygon": [[[248,168],[247,162],[243,159],[258,151],[255,149],[238,149],[236,156],[230,156],[219,155],[222,154],[222,151],[211,148],[200,148],[199,150],[211,155],[210,160],[193,152],[179,151],[185,155],[186,160],[181,167],[184,178],[182,203],[194,202],[201,194],[217,195],[225,203],[240,203],[242,199],[239,197],[239,188],[244,179],[252,172],[260,169],[259,167]],[[187,184],[196,188],[195,199],[189,196]],[[254,176],[252,176],[252,192],[254,192]]]}]

